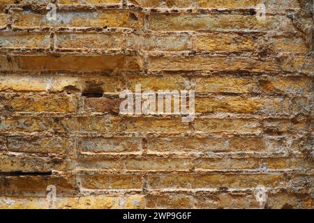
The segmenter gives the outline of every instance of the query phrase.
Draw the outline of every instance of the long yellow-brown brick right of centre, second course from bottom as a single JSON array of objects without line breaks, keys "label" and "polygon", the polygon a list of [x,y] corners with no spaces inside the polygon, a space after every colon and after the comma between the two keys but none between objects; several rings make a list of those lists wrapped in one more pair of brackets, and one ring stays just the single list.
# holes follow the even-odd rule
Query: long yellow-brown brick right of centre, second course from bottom
[{"label": "long yellow-brown brick right of centre, second course from bottom", "polygon": [[257,187],[280,185],[280,174],[163,174],[148,177],[149,189],[162,188],[211,188],[211,187]]}]

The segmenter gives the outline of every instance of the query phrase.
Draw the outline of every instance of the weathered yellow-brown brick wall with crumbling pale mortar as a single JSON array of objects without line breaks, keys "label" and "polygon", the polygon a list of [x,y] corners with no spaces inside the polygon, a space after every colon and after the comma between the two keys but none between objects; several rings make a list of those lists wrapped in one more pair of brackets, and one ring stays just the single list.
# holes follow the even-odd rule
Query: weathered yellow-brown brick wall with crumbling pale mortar
[{"label": "weathered yellow-brown brick wall with crumbling pale mortar", "polygon": [[[0,0],[0,208],[314,208],[312,0],[48,3]],[[135,84],[194,121],[119,114]]]}]

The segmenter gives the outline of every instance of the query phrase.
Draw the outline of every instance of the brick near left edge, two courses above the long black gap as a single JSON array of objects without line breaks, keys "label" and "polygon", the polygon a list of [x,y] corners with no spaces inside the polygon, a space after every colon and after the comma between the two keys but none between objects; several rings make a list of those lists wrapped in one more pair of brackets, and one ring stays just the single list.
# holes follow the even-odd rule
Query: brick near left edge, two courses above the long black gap
[{"label": "brick near left edge, two courses above the long black gap", "polygon": [[73,142],[65,137],[21,137],[7,138],[8,151],[19,153],[66,153],[73,149]]}]

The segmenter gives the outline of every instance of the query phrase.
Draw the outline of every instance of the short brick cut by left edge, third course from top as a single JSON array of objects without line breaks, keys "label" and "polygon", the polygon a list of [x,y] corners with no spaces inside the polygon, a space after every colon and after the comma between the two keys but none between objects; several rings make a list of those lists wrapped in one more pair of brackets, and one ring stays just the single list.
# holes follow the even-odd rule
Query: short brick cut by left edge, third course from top
[{"label": "short brick cut by left edge, third course from top", "polygon": [[48,49],[49,33],[0,33],[0,47],[3,49]]}]

